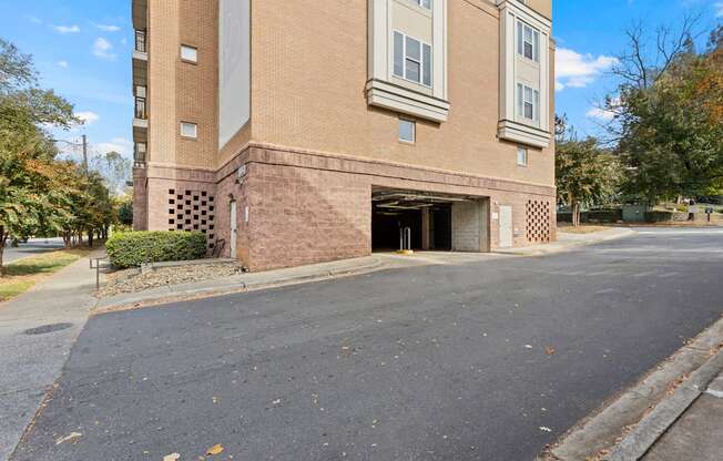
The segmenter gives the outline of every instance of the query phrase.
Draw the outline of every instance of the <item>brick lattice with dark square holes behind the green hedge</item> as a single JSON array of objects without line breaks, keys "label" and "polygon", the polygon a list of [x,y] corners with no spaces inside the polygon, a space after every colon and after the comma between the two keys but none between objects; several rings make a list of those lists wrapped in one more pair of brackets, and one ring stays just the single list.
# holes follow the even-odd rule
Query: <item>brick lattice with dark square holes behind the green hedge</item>
[{"label": "brick lattice with dark square holes behind the green hedge", "polygon": [[205,191],[169,189],[169,230],[201,230],[211,249],[216,242],[215,212],[214,197]]}]

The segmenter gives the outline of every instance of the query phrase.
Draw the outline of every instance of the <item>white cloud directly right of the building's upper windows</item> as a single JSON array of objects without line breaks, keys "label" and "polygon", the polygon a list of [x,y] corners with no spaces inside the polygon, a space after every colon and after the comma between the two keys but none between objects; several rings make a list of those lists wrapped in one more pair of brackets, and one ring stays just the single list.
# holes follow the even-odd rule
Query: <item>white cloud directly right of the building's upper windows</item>
[{"label": "white cloud directly right of the building's upper windows", "polygon": [[580,54],[567,48],[558,48],[554,59],[554,89],[584,88],[594,82],[602,72],[618,62],[617,58]]}]

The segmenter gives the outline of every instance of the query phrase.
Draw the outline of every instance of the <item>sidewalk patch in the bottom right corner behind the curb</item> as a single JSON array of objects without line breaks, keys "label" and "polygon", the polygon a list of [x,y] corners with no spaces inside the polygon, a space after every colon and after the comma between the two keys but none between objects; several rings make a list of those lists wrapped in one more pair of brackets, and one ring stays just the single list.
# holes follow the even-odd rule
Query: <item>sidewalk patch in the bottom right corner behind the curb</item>
[{"label": "sidewalk patch in the bottom right corner behind the curb", "polygon": [[642,460],[723,460],[723,372]]}]

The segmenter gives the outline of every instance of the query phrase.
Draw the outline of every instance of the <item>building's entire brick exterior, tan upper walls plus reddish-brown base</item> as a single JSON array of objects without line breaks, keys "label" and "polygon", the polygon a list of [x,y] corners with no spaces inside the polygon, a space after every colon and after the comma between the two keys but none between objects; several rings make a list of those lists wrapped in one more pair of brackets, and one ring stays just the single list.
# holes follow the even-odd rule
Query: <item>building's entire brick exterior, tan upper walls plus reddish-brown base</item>
[{"label": "building's entire brick exterior, tan upper walls plus reddish-brown base", "polygon": [[[167,229],[169,191],[190,188],[216,197],[215,235],[226,255],[236,201],[237,254],[254,270],[364,256],[371,186],[385,186],[489,197],[491,213],[511,205],[516,246],[530,244],[528,201],[548,201],[554,238],[553,148],[531,150],[529,166],[519,167],[517,145],[496,137],[493,3],[449,2],[450,116],[419,121],[414,146],[398,142],[397,114],[367,105],[366,4],[254,1],[252,120],[220,148],[217,0],[150,0],[149,228]],[[543,14],[546,6],[532,2]],[[181,62],[181,43],[198,48],[197,65]],[[198,123],[197,141],[180,139],[181,121]],[[238,183],[242,164],[248,174]],[[495,249],[493,219],[489,232]]]}]

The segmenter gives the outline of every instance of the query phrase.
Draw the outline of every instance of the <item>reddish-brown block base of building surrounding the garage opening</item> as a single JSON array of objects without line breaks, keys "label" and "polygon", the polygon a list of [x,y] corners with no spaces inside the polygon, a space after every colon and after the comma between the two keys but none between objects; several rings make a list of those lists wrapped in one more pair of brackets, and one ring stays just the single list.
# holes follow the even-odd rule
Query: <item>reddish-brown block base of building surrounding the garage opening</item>
[{"label": "reddish-brown block base of building surrounding the garage opening", "polygon": [[[246,173],[238,178],[242,165]],[[230,255],[230,203],[235,201],[237,257],[252,270],[369,255],[373,186],[488,197],[492,215],[500,205],[511,205],[515,246],[539,243],[528,238],[528,208],[534,203],[534,209],[549,209],[549,238],[556,239],[554,187],[337,154],[254,143],[216,172],[149,165],[134,178],[139,229],[143,224],[151,230],[170,228],[171,189],[214,196],[214,238],[225,240],[224,256]],[[499,228],[493,218],[490,234],[495,250]]]}]

